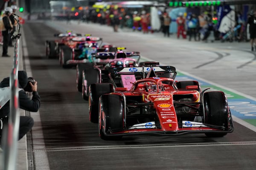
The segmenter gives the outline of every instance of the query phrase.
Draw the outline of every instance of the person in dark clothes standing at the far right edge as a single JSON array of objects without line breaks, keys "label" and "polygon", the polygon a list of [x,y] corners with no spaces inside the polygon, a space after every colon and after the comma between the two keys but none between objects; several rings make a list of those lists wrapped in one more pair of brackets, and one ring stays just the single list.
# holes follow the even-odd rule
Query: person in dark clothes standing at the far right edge
[{"label": "person in dark clothes standing at the far right edge", "polygon": [[250,45],[253,51],[256,50],[256,11],[253,15],[249,15],[247,23],[249,24]]}]

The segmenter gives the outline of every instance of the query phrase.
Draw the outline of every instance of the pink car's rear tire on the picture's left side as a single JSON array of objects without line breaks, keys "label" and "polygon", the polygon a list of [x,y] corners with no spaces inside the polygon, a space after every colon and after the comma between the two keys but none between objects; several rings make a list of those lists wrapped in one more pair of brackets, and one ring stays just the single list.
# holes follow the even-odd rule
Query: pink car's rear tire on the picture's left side
[{"label": "pink car's rear tire on the picture's left side", "polygon": [[84,69],[93,69],[93,63],[79,63],[76,65],[76,88],[82,92],[82,76]]}]

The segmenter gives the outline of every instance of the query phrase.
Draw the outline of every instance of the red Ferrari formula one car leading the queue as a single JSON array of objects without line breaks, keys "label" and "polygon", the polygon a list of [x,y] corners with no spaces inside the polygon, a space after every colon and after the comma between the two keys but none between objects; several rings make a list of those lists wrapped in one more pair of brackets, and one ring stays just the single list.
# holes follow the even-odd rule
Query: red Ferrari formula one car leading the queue
[{"label": "red Ferrari formula one car leading the queue", "polygon": [[187,133],[221,137],[233,132],[233,120],[224,92],[210,91],[209,88],[201,91],[197,81],[175,81],[175,67],[110,70],[111,74],[126,76],[146,72],[145,78],[132,82],[130,90],[117,88],[114,83],[90,85],[90,121],[99,123],[102,139]]}]

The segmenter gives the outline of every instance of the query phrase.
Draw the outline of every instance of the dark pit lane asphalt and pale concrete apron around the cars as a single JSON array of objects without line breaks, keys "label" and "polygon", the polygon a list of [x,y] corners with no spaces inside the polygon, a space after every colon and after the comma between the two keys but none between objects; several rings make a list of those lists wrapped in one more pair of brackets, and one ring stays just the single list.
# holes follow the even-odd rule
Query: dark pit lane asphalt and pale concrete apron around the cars
[{"label": "dark pit lane asphalt and pale concrete apron around the cars", "polygon": [[[24,37],[31,71],[38,81],[40,115],[32,114],[30,168],[37,170],[146,170],[243,169],[256,166],[256,133],[235,122],[235,131],[223,138],[204,134],[185,136],[125,136],[102,141],[97,125],[88,120],[88,103],[76,91],[76,70],[63,69],[57,59],[45,57],[45,40],[73,30],[102,37],[105,42],[140,51],[143,57],[175,66],[196,79],[255,99],[255,54],[246,43],[204,43],[177,40],[175,36],[113,32],[99,24],[27,22]],[[26,56],[25,56],[26,57]],[[146,59],[147,60],[147,59]],[[180,78],[183,78],[182,75]],[[41,122],[37,116],[40,116]],[[41,134],[42,130],[42,134]]]}]

